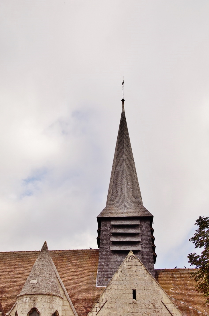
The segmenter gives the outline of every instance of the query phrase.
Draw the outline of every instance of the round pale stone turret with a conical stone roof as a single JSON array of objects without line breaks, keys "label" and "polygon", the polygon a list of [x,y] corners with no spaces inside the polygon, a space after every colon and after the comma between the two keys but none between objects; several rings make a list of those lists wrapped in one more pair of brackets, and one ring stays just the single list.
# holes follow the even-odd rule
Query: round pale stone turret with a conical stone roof
[{"label": "round pale stone turret with a conical stone roof", "polygon": [[61,316],[62,304],[63,297],[45,241],[21,293],[17,296],[16,312],[22,316],[27,316],[30,311],[37,316],[52,316],[54,313]]}]

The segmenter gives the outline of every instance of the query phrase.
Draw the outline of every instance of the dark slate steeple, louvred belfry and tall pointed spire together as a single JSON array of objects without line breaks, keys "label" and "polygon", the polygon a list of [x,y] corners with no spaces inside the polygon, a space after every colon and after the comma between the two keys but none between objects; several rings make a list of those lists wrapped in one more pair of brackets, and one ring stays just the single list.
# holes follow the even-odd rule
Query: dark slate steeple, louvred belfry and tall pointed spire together
[{"label": "dark slate steeple, louvred belfry and tall pointed spire together", "polygon": [[152,221],[144,207],[138,184],[122,99],[107,203],[97,216],[100,248],[97,286],[106,286],[132,250],[155,276],[156,260]]}]

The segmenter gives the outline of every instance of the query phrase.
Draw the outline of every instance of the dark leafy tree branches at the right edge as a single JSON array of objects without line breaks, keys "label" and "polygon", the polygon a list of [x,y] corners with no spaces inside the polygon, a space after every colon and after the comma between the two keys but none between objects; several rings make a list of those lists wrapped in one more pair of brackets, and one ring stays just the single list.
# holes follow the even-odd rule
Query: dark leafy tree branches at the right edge
[{"label": "dark leafy tree branches at the right edge", "polygon": [[197,269],[190,272],[196,282],[196,290],[203,293],[206,303],[209,304],[209,217],[199,216],[195,225],[199,228],[189,241],[195,245],[195,249],[203,248],[203,251],[201,255],[197,255],[196,252],[189,253],[187,258],[190,265]]}]

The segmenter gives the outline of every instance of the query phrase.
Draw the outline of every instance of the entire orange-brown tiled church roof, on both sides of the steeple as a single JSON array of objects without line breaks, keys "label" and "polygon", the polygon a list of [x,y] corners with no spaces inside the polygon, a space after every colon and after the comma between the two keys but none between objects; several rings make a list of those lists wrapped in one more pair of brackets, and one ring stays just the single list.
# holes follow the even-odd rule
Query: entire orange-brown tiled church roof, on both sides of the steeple
[{"label": "entire orange-brown tiled church roof, on both sides of the steeple", "polygon": [[[5,313],[14,305],[39,253],[0,252],[0,301]],[[103,291],[103,288],[95,287],[99,250],[53,250],[50,255],[78,315],[86,316]],[[189,279],[189,271],[156,270],[156,279],[168,295],[178,300],[174,302],[183,315],[202,314],[179,301],[209,315],[209,308],[204,305],[205,298],[195,292],[195,283]]]}]

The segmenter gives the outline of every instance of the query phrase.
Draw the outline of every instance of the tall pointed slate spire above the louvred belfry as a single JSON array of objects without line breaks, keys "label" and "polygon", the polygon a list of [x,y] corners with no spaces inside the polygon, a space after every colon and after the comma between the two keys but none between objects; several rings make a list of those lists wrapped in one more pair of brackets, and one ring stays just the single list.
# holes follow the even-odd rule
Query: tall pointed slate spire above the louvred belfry
[{"label": "tall pointed slate spire above the louvred belfry", "polygon": [[123,99],[107,203],[97,218],[129,216],[153,217],[142,202]]}]

